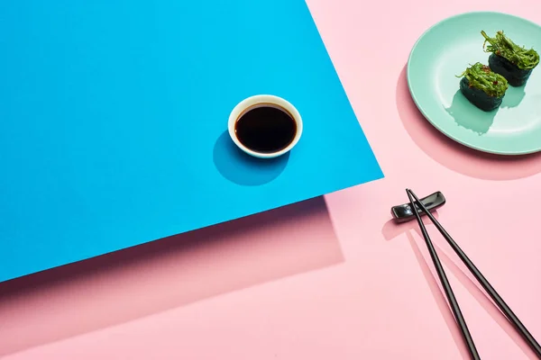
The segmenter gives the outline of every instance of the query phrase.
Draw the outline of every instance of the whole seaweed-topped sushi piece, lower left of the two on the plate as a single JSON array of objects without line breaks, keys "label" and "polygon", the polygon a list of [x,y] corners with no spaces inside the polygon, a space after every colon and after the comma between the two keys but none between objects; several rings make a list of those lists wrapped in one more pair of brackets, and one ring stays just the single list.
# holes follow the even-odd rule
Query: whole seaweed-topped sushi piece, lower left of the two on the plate
[{"label": "whole seaweed-topped sushi piece, lower left of the two on the plate", "polygon": [[470,103],[484,112],[490,112],[501,105],[509,87],[505,77],[480,62],[466,68],[460,76],[460,90]]}]

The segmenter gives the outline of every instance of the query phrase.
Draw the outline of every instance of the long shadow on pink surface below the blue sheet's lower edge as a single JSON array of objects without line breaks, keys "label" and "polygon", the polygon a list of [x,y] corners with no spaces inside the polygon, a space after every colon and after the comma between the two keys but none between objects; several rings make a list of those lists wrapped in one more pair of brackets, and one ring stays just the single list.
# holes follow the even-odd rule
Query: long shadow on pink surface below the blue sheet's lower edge
[{"label": "long shadow on pink surface below the blue sheet's lower edge", "polygon": [[0,357],[343,261],[317,197],[14,279]]}]

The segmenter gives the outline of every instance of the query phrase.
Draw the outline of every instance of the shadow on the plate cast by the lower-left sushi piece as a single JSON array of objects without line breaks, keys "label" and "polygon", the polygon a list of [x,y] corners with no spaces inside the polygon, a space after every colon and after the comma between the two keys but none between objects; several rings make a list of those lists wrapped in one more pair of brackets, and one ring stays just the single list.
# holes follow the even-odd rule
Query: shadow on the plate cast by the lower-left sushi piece
[{"label": "shadow on the plate cast by the lower-left sushi piece", "polygon": [[[481,111],[470,103],[460,90],[454,93],[451,106],[445,108],[445,111],[453,117],[459,126],[472,130],[478,135],[486,134],[491,129],[494,118],[499,110],[495,109],[490,112]],[[472,116],[472,112],[476,112],[474,117]]]}]

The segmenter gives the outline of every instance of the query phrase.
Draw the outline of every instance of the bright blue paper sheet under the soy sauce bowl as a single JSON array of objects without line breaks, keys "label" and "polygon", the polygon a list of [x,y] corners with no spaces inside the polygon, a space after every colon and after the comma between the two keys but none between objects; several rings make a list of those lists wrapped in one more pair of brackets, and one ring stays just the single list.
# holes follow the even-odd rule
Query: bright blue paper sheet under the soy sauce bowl
[{"label": "bright blue paper sheet under the soy sauce bowl", "polygon": [[[302,0],[4,1],[0,51],[0,281],[382,177]],[[288,155],[228,138],[253,94]]]}]

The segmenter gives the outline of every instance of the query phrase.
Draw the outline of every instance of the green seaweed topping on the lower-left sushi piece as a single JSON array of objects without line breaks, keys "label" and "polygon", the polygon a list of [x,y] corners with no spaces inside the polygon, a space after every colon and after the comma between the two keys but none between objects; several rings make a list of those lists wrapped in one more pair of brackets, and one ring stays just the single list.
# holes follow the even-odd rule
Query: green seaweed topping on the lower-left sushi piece
[{"label": "green seaweed topping on the lower-left sushi piece", "polygon": [[468,67],[457,77],[464,76],[470,87],[476,87],[489,96],[501,97],[507,91],[509,84],[505,77],[491,71],[491,67],[477,62]]}]

